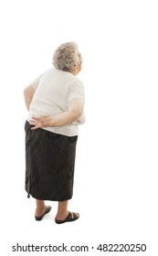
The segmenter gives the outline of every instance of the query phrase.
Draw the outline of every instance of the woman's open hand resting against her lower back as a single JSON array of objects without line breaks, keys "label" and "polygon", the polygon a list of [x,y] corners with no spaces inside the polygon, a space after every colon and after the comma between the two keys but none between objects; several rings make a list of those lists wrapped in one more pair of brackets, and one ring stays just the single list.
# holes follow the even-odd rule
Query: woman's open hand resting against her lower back
[{"label": "woman's open hand resting against her lower back", "polygon": [[32,127],[31,130],[36,130],[38,128],[51,126],[52,120],[53,120],[53,116],[41,116],[41,117],[33,116],[29,121],[31,125],[34,125],[34,127]]}]

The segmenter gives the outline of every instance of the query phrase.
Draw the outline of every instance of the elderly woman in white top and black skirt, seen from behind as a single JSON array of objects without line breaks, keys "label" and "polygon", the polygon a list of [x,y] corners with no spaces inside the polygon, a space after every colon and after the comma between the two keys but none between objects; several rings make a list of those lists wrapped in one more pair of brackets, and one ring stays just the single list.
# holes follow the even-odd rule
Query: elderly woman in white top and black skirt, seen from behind
[{"label": "elderly woman in white top and black skirt, seen from behind", "polygon": [[77,78],[82,59],[76,43],[60,45],[53,65],[24,91],[26,192],[36,198],[36,220],[51,209],[45,200],[58,201],[55,221],[61,224],[79,219],[79,213],[68,211],[79,123],[84,123],[84,87]]}]

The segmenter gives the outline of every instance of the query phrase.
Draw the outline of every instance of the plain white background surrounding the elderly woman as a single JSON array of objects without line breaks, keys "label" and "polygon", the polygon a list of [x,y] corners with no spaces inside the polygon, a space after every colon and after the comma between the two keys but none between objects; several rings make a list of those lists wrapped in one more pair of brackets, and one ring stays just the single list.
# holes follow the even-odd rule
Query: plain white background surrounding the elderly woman
[{"label": "plain white background surrounding the elderly woman", "polygon": [[[156,255],[157,14],[153,0],[0,2],[3,255],[24,255],[12,252],[17,242],[95,248],[100,243],[145,243],[146,252],[130,255]],[[51,67],[58,45],[71,40],[79,44],[79,78],[86,89],[87,123],[80,126],[69,201],[80,219],[57,225],[56,202],[48,202],[52,211],[36,222],[35,201],[26,198],[23,90]]]}]

